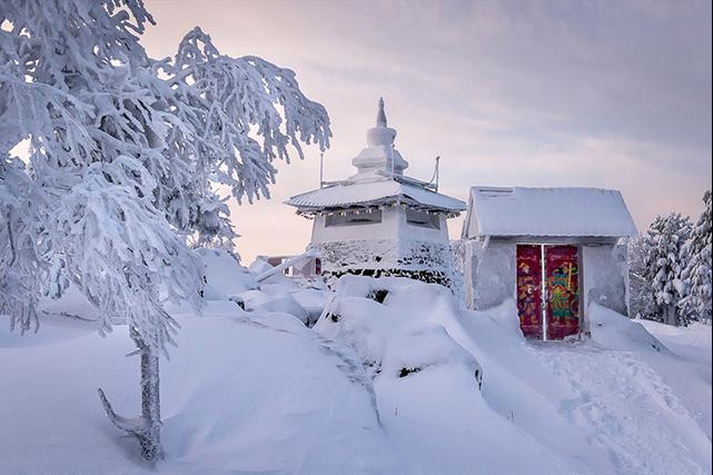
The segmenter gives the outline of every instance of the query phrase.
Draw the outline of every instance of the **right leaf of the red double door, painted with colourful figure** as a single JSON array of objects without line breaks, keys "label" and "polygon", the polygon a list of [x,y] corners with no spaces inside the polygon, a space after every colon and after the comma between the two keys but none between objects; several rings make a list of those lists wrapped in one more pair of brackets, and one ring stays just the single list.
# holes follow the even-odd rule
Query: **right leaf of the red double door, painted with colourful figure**
[{"label": "right leaf of the red double door, painted with colourful figure", "polygon": [[580,266],[576,246],[545,246],[546,339],[580,333]]}]

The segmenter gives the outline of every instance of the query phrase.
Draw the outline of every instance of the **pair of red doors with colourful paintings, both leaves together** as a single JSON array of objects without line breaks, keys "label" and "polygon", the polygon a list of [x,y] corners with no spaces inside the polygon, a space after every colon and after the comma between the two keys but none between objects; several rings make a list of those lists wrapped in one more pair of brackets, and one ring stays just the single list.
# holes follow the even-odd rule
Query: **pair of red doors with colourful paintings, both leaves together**
[{"label": "pair of red doors with colourful paintings, both leaves together", "polygon": [[541,245],[517,246],[517,311],[527,338],[563,339],[580,333],[576,246],[544,246],[544,253]]}]

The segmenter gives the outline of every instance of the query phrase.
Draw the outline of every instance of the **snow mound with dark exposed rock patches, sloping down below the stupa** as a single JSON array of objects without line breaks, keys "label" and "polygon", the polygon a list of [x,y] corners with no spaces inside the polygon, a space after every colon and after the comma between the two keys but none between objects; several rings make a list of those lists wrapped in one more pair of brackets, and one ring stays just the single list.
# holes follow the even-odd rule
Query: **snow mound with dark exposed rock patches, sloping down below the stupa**
[{"label": "snow mound with dark exposed rock patches, sloping down below the stupa", "polygon": [[398,473],[567,473],[488,406],[462,319],[445,287],[344,276],[315,330],[353,348],[374,378]]}]

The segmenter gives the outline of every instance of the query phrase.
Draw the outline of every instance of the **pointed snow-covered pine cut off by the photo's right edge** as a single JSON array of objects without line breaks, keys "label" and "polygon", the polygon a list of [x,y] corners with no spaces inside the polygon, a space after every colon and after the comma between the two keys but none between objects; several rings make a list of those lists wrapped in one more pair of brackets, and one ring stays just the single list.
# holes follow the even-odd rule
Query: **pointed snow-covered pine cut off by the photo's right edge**
[{"label": "pointed snow-covered pine cut off by the photo's right edge", "polygon": [[693,227],[683,253],[686,266],[682,279],[689,289],[681,311],[693,319],[711,321],[711,190],[703,196],[703,212]]}]

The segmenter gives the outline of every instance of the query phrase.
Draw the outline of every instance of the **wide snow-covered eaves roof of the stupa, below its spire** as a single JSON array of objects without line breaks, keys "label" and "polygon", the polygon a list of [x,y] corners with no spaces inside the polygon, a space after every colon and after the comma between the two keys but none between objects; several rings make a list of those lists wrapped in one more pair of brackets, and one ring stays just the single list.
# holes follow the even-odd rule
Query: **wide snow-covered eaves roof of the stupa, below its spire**
[{"label": "wide snow-covered eaves roof of the stupa, below its spire", "polygon": [[397,199],[447,211],[463,211],[466,208],[465,202],[459,199],[390,178],[373,181],[340,181],[325,188],[294,196],[286,202],[296,206],[303,211],[309,211],[323,208],[388,202]]}]

